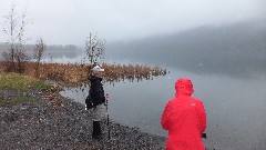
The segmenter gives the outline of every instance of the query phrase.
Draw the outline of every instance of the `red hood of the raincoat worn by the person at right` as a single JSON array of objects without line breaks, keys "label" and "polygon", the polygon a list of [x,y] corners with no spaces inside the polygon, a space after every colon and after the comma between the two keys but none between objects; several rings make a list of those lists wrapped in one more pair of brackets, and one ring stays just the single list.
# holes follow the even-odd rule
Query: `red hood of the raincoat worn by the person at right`
[{"label": "red hood of the raincoat worn by the person at right", "polygon": [[175,82],[176,96],[191,96],[193,90],[193,83],[188,78],[181,78]]}]

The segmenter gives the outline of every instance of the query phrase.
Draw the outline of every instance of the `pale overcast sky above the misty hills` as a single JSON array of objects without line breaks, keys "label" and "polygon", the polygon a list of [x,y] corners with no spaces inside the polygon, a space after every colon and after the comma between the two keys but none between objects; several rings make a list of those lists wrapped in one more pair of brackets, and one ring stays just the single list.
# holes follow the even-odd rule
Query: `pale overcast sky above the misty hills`
[{"label": "pale overcast sky above the misty hills", "polygon": [[[204,24],[227,24],[263,18],[265,0],[12,0],[25,8],[27,34],[48,44],[84,44],[90,32],[108,42],[177,32]],[[0,0],[0,16],[11,0]],[[6,41],[2,30],[0,41]]]}]

